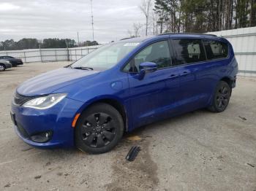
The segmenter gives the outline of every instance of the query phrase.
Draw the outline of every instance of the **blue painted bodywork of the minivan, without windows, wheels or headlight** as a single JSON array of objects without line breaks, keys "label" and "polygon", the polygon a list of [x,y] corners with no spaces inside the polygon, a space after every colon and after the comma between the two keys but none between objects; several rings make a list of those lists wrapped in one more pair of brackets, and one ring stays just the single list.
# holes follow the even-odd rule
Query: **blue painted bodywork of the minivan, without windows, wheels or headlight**
[{"label": "blue painted bodywork of the minivan, without windows, wheels or headlight", "polygon": [[[146,73],[124,72],[127,62],[144,47],[153,42],[171,39],[217,39],[228,44],[228,58],[200,63],[172,66]],[[67,93],[67,97],[50,109],[31,109],[12,104],[15,120],[33,135],[52,130],[53,137],[46,143],[36,143],[16,133],[27,144],[34,147],[72,147],[75,114],[83,112],[89,105],[110,99],[124,107],[127,114],[127,130],[133,130],[150,122],[162,120],[184,112],[203,108],[211,104],[214,88],[220,79],[234,80],[238,64],[233,48],[226,39],[204,35],[162,35],[121,42],[140,42],[110,69],[80,70],[63,68],[49,71],[23,82],[17,93],[26,96]],[[175,49],[175,47],[173,47]],[[171,55],[175,58],[175,54]],[[149,63],[151,64],[151,63]],[[149,66],[146,64],[147,67]],[[154,69],[154,64],[150,65]],[[172,75],[171,75],[172,74]]]}]

